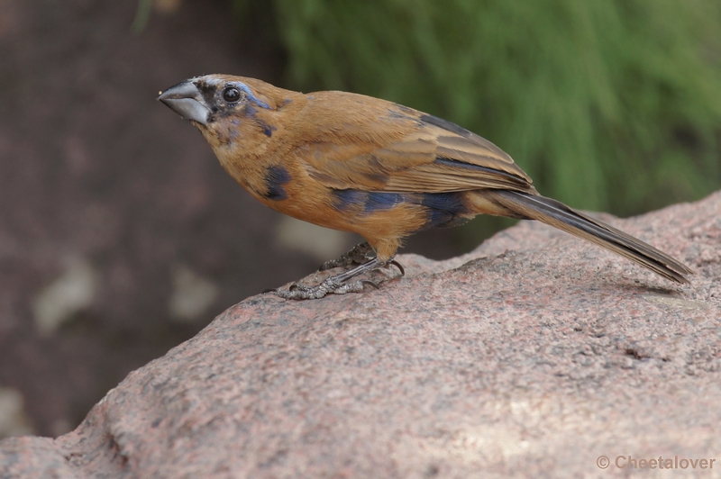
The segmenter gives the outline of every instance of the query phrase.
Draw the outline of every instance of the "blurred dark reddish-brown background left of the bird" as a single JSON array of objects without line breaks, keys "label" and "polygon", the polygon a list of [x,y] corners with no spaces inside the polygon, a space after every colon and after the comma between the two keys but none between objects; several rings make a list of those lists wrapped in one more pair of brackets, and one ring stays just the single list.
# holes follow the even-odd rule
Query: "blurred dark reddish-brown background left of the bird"
[{"label": "blurred dark reddish-brown background left of the bird", "polygon": [[278,83],[282,51],[227,2],[156,7],[134,34],[137,9],[0,0],[0,437],[67,432],[132,369],[354,241],[283,222],[155,101],[205,73]]}]

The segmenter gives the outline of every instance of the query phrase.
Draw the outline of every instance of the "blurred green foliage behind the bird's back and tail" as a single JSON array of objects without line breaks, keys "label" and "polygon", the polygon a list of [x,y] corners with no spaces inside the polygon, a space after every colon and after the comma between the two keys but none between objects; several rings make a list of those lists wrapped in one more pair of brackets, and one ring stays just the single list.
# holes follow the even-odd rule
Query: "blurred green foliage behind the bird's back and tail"
[{"label": "blurred green foliage behind the bird's back and tail", "polygon": [[720,5],[273,2],[288,86],[442,116],[506,149],[542,194],[624,215],[721,185]]}]

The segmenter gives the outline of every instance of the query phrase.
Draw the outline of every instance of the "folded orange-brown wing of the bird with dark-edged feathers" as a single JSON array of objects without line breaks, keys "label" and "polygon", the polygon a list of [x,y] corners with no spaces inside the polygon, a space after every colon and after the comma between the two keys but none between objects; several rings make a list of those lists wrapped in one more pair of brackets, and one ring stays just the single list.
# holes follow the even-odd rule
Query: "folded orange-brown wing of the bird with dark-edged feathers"
[{"label": "folded orange-brown wing of the bird with dark-edged feathers", "polygon": [[[447,193],[480,188],[534,192],[503,150],[475,133],[397,104],[351,95],[297,154],[316,181],[337,189]],[[337,99],[337,98],[336,98]],[[354,102],[354,103],[355,103]]]}]

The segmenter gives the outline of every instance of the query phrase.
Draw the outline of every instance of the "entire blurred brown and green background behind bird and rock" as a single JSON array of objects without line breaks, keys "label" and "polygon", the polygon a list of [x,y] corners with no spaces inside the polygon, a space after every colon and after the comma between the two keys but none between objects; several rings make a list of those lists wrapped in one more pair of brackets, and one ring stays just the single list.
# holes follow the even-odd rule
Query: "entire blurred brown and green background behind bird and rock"
[{"label": "entire blurred brown and green background behind bird and rock", "polygon": [[[487,136],[543,194],[583,208],[631,214],[721,185],[718,17],[617,1],[604,3],[616,16],[591,12],[594,31],[575,0],[552,3],[0,0],[0,438],[67,432],[214,315],[356,242],[235,185],[199,132],[155,101],[187,77],[409,104]],[[545,43],[528,28],[539,22]],[[615,22],[637,37],[604,26]],[[691,34],[707,36],[674,40]],[[599,50],[569,49],[587,44]],[[403,252],[448,258],[501,224],[426,232]]]}]

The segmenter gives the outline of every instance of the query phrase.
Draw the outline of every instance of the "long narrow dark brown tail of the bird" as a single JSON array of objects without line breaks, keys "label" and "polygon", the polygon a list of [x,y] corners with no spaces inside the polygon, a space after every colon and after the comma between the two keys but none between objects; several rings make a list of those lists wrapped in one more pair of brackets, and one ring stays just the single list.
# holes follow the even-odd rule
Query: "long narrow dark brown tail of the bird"
[{"label": "long narrow dark brown tail of the bird", "polygon": [[[689,283],[693,271],[640,239],[539,194],[483,190],[484,199],[527,219],[542,221],[609,249],[671,281]],[[485,203],[485,202],[484,202]]]}]

